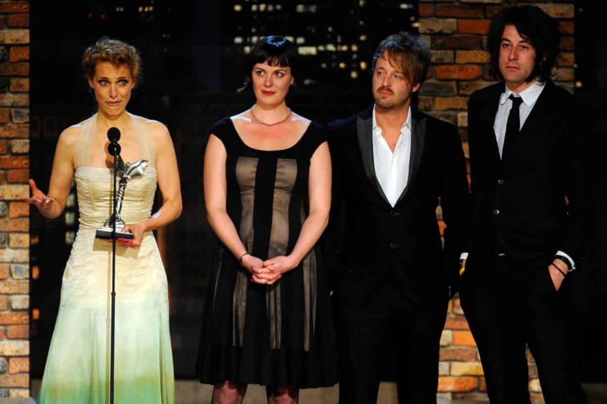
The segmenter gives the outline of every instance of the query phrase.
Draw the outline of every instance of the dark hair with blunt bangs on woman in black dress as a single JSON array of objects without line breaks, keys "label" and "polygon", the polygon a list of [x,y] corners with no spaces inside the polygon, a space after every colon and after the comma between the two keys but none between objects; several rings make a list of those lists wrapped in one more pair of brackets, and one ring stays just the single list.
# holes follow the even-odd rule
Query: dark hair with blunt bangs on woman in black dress
[{"label": "dark hair with blunt bangs on woman in black dress", "polygon": [[270,66],[290,67],[291,76],[297,80],[299,77],[299,54],[293,42],[284,36],[265,36],[253,46],[251,52],[246,55],[245,82],[238,89],[243,91],[253,80],[253,66],[257,63],[268,62]]}]

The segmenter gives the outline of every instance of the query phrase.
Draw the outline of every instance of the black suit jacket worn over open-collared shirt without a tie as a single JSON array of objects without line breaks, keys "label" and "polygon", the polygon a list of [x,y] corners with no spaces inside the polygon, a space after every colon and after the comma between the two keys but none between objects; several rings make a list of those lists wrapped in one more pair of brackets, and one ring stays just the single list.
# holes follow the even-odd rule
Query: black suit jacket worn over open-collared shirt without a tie
[{"label": "black suit jacket worn over open-collared shirt without a tie", "polygon": [[[412,108],[409,180],[392,207],[375,175],[372,113],[373,106],[328,126],[334,189],[324,246],[334,291],[345,303],[364,306],[379,293],[378,276],[392,268],[416,305],[439,305],[449,298],[449,284],[455,286],[466,246],[469,191],[458,131]],[[439,198],[447,224],[444,247],[436,221]],[[338,241],[342,201],[345,235]]]}]

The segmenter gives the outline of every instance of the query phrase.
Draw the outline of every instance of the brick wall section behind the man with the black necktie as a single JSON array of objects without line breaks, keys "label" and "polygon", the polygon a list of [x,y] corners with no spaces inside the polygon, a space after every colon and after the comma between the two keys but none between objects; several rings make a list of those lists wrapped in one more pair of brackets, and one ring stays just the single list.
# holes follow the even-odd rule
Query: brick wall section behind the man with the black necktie
[{"label": "brick wall section behind the man with the black necktie", "polygon": [[[574,89],[574,5],[566,1],[517,2],[516,0],[419,0],[419,33],[432,53],[429,77],[421,87],[419,108],[456,124],[467,157],[468,98],[492,84],[484,50],[490,19],[502,8],[534,4],[560,21],[563,39],[555,82]],[[438,209],[438,217],[441,211]],[[441,223],[442,224],[442,223]],[[442,226],[441,226],[442,228]],[[540,383],[533,358],[529,359],[532,400],[541,401]],[[449,304],[441,338],[439,395],[448,399],[486,400],[486,385],[476,344],[470,334],[459,298]]]}]

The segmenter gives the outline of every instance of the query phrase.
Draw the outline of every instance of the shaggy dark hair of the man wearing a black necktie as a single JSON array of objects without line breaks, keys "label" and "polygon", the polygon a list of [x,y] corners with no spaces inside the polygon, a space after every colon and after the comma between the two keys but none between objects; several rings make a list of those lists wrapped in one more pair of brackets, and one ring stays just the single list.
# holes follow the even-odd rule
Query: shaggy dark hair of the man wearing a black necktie
[{"label": "shaggy dark hair of the man wearing a black necktie", "polygon": [[561,32],[557,20],[534,5],[504,8],[493,17],[486,45],[491,55],[489,72],[499,80],[504,79],[499,62],[501,38],[506,25],[514,25],[518,35],[531,42],[535,49],[535,66],[526,81],[536,77],[540,81],[548,80],[554,74],[559,55]]}]

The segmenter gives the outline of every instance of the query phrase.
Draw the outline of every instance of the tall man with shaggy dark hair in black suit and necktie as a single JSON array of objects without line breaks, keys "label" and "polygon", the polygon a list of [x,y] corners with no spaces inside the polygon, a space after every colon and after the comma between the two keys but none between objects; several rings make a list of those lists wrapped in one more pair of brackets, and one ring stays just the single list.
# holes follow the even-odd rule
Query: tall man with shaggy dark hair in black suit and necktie
[{"label": "tall man with shaggy dark hair in black suit and necktie", "polygon": [[593,213],[591,130],[555,86],[560,33],[540,8],[506,8],[487,36],[502,81],[468,106],[472,237],[461,305],[492,403],[529,403],[525,346],[546,403],[585,403],[575,360],[572,277]]}]

